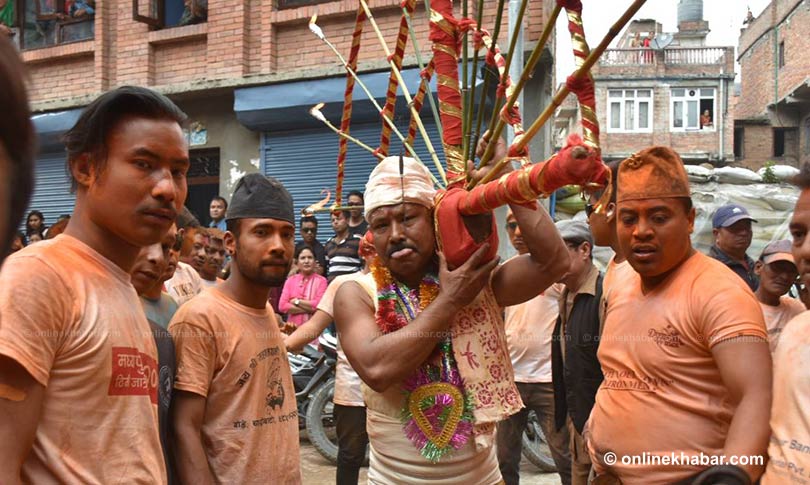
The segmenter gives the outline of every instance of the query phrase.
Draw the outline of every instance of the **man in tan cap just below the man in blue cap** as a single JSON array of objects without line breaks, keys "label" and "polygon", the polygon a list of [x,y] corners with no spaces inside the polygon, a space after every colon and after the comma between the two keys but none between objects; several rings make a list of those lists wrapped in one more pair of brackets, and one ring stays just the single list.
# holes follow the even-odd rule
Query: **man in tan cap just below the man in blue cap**
[{"label": "man in tan cap just below the man in blue cap", "polygon": [[754,272],[759,277],[759,287],[754,294],[765,316],[771,352],[776,350],[785,324],[806,310],[804,303],[786,295],[799,276],[790,251],[791,244],[787,239],[774,241],[765,246],[759,261],[754,264]]}]

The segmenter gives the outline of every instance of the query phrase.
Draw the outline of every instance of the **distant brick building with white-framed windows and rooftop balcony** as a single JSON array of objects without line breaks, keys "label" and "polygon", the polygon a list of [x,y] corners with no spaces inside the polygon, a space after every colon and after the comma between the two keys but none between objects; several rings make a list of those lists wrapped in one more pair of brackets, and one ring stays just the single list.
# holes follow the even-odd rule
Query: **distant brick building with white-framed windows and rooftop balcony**
[{"label": "distant brick building with white-framed windows and rooftop balcony", "polygon": [[[733,160],[734,48],[706,46],[708,32],[703,2],[680,0],[677,32],[662,32],[655,20],[634,20],[605,51],[593,70],[605,160],[651,145],[672,147],[690,163]],[[569,108],[559,116],[577,114]],[[556,126],[570,124],[558,120]]]}]

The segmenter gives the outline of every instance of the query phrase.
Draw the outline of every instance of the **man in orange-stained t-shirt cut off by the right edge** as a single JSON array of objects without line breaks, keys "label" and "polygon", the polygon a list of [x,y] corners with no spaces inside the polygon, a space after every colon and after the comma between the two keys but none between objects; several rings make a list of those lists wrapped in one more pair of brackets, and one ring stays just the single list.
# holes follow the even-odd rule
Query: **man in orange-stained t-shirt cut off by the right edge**
[{"label": "man in orange-stained t-shirt cut off by the right edge", "polygon": [[[810,164],[794,183],[801,189],[790,219],[793,259],[801,282],[810,284]],[[773,355],[773,406],[768,468],[762,485],[807,483],[810,470],[810,312],[785,325]]]}]

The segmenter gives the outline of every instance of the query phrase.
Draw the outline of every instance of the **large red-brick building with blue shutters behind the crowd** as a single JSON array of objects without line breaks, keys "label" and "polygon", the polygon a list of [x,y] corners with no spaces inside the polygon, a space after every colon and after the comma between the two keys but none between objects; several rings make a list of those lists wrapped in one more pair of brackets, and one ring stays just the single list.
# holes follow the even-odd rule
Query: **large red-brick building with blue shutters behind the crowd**
[{"label": "large red-brick building with blue shutters behind the crowd", "polygon": [[[357,0],[207,0],[207,5],[205,0],[186,0],[185,4],[183,0],[106,0],[90,1],[92,14],[85,11],[78,16],[71,12],[75,14],[76,7],[89,0],[7,1],[13,4],[12,14],[7,16],[12,20],[0,17],[0,21],[18,32],[40,136],[31,208],[45,212],[47,223],[69,213],[73,204],[59,137],[90,100],[127,84],[154,88],[189,115],[193,163],[187,205],[203,222],[211,197],[217,193],[230,197],[238,178],[247,172],[280,178],[293,192],[296,209],[320,199],[321,189],[334,187],[337,136],[307,111],[324,102],[323,113],[339,124],[345,71],[307,23],[317,12],[318,25],[327,38],[348,55]],[[373,0],[370,4],[393,48],[402,13],[400,0]],[[483,24],[491,30],[495,2],[485,5]],[[529,3],[523,22],[527,49],[534,47],[553,5],[553,0]],[[2,12],[5,10],[0,9]],[[474,15],[474,11],[470,13]],[[504,45],[507,18],[505,12]],[[422,2],[417,2],[413,26],[423,60],[429,59],[428,21]],[[419,82],[413,45],[409,41],[403,73],[411,93]],[[526,117],[536,114],[550,93],[553,46],[547,50],[526,88],[525,105],[530,106]],[[382,100],[388,64],[368,22],[359,59],[361,77]],[[435,80],[433,84],[435,89]],[[426,103],[422,117],[438,146],[428,106]],[[402,98],[396,119],[407,124]],[[379,143],[379,115],[359,88],[351,130],[369,145]],[[542,138],[537,143],[545,143]],[[417,144],[417,152],[429,160],[423,144]],[[399,146],[392,143],[391,150],[397,153]],[[540,155],[548,154],[544,147],[540,150]],[[371,156],[351,147],[345,190],[362,190],[372,168]]]}]

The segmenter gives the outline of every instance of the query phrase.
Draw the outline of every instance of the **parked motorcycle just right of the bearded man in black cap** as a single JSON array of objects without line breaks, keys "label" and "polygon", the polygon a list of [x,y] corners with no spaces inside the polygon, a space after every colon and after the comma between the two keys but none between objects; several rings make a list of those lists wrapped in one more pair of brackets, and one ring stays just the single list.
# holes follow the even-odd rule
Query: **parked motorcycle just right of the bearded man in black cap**
[{"label": "parked motorcycle just right of the bearded man in black cap", "polygon": [[306,429],[310,443],[324,458],[337,463],[337,434],[332,396],[335,391],[337,338],[324,332],[319,351],[307,345],[301,353],[288,353],[298,403],[298,429]]}]

